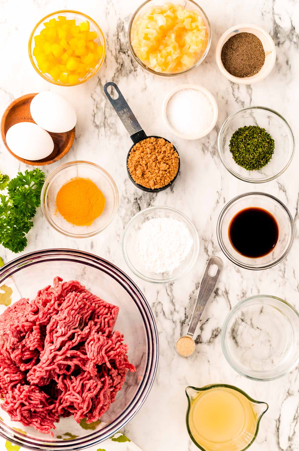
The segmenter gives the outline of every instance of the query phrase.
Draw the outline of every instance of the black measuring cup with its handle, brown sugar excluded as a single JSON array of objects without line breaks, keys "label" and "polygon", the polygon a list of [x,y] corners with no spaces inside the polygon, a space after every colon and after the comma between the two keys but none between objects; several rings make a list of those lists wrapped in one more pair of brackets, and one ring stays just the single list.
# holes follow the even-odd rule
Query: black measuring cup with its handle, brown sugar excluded
[{"label": "black measuring cup with its handle, brown sugar excluded", "polygon": [[[117,99],[113,99],[110,96],[109,92],[107,91],[107,88],[109,86],[113,86],[115,91],[118,93],[118,98]],[[142,185],[134,182],[134,180],[131,177],[130,171],[128,170],[128,158],[129,158],[130,152],[132,150],[132,147],[134,147],[135,144],[139,143],[139,141],[143,141],[146,138],[161,138],[161,136],[155,136],[155,135],[147,136],[145,134],[144,130],[141,128],[141,125],[139,124],[138,120],[134,116],[131,108],[127,104],[126,99],[123,97],[123,95],[120,92],[120,90],[119,90],[119,88],[118,88],[116,83],[113,83],[113,82],[106,83],[105,86],[104,86],[104,93],[108,97],[109,102],[113,106],[113,108],[116,111],[119,119],[122,121],[122,124],[125,126],[127,132],[130,135],[131,140],[134,143],[131,146],[131,148],[130,148],[130,150],[128,152],[128,155],[127,155],[127,174],[129,176],[131,182],[135,186],[137,186],[137,188],[142,189],[142,191],[147,191],[148,193],[158,193],[159,191],[163,191],[164,189],[169,188],[174,183],[174,181],[177,178],[177,175],[178,175],[178,173],[180,171],[180,166],[181,166],[180,165],[180,158],[179,158],[179,166],[178,166],[178,169],[177,169],[177,174],[175,175],[174,179],[172,179],[172,181],[170,183],[168,183],[167,185],[163,186],[162,188],[157,188],[157,189],[145,188],[145,186],[142,186]],[[165,139],[165,138],[163,138],[163,139]],[[168,141],[168,139],[165,139],[165,141],[170,143],[170,141]],[[174,148],[174,150],[177,151],[177,149],[174,146],[173,146],[173,148]],[[177,152],[177,154],[178,154],[178,152]]]}]

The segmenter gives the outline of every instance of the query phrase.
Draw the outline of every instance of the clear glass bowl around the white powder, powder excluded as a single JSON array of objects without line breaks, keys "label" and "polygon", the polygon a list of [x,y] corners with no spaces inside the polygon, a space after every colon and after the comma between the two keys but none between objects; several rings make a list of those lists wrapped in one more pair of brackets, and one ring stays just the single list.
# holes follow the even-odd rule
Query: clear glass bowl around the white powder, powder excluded
[{"label": "clear glass bowl around the white powder, powder excluded", "polygon": [[[142,224],[152,218],[172,218],[183,222],[193,239],[193,246],[190,253],[182,262],[181,266],[172,272],[171,276],[168,273],[155,274],[144,268],[136,251],[136,235]],[[122,253],[128,267],[140,279],[152,283],[170,283],[186,276],[187,272],[194,266],[199,254],[199,236],[195,226],[193,226],[190,219],[183,213],[171,207],[149,207],[137,213],[128,222],[122,235]]]}]

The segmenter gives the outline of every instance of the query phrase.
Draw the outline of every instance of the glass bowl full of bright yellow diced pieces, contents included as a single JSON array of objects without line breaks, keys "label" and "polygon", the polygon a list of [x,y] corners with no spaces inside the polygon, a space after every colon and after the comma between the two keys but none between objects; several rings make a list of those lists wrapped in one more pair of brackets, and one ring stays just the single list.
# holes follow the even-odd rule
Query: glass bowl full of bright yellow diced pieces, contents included
[{"label": "glass bowl full of bright yellow diced pieces, contents included", "polygon": [[29,58],[36,72],[60,86],[86,82],[100,69],[105,51],[99,25],[86,14],[72,10],[42,18],[28,43]]}]

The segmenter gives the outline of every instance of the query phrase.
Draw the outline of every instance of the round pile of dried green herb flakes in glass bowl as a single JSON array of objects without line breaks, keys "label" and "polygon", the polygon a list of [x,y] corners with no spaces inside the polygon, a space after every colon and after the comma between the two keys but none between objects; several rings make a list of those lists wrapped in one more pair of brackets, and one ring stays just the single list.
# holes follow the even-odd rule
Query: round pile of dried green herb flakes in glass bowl
[{"label": "round pile of dried green herb flakes in glass bowl", "polygon": [[274,139],[257,125],[245,125],[232,134],[229,149],[237,165],[247,170],[266,166],[274,152]]}]

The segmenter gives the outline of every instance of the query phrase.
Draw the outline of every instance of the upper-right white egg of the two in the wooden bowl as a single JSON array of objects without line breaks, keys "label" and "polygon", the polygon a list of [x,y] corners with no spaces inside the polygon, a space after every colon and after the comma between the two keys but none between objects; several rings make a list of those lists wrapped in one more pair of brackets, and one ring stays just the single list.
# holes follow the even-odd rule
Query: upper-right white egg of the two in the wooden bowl
[{"label": "upper-right white egg of the two in the wooden bowl", "polygon": [[77,122],[73,106],[56,92],[36,94],[30,104],[32,119],[48,132],[63,133],[72,130]]}]

